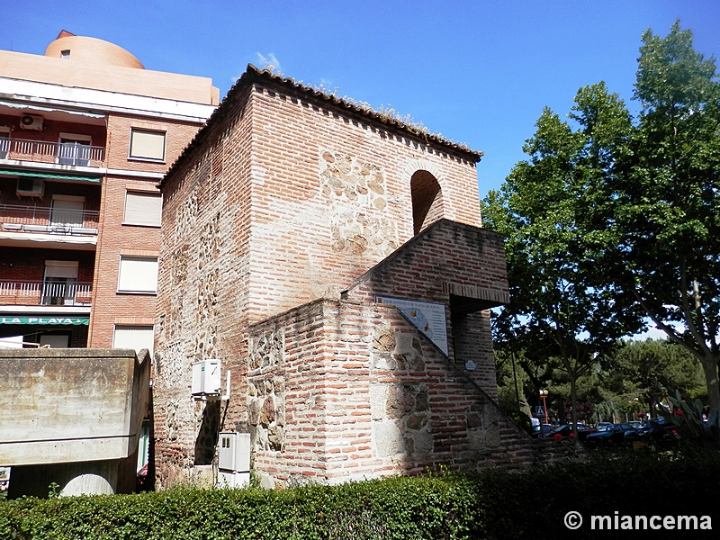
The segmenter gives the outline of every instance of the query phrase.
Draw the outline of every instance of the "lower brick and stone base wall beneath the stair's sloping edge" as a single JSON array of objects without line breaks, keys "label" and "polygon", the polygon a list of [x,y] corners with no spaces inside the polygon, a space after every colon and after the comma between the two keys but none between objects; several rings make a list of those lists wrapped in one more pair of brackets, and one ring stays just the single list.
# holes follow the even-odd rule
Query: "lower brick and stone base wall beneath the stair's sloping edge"
[{"label": "lower brick and stone base wall beneath the stair's sloping edge", "polygon": [[392,306],[319,300],[249,341],[247,431],[266,487],[577,453],[528,437]]}]

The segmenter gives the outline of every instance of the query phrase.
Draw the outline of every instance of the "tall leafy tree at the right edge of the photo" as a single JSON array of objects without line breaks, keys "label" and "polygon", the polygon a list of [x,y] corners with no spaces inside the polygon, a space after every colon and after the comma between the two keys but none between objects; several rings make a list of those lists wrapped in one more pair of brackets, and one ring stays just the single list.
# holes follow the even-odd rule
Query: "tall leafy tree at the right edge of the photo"
[{"label": "tall leafy tree at the right edge of the photo", "polygon": [[[600,281],[634,300],[700,360],[720,410],[720,85],[690,31],[645,31],[635,98],[642,111],[615,174],[581,193]],[[600,167],[601,168],[601,167]],[[599,175],[600,176],[600,175]]]}]

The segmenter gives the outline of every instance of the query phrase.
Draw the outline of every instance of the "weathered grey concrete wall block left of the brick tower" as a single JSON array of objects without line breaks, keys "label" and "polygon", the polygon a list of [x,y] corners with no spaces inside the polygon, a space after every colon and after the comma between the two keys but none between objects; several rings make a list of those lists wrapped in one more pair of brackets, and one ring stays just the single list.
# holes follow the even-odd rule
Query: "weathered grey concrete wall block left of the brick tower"
[{"label": "weathered grey concrete wall block left of the brick tower", "polygon": [[147,350],[0,350],[0,464],[129,457],[148,396]]}]

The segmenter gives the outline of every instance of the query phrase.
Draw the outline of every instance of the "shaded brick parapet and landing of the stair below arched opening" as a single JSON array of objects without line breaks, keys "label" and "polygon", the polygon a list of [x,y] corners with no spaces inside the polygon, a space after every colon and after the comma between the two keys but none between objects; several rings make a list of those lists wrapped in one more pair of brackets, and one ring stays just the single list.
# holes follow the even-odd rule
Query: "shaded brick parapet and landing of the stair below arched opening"
[{"label": "shaded brick parapet and landing of the stair below arched opening", "polygon": [[502,238],[487,230],[437,221],[356,280],[343,296],[377,295],[446,305],[449,356],[493,399],[497,397],[488,308],[509,301]]}]

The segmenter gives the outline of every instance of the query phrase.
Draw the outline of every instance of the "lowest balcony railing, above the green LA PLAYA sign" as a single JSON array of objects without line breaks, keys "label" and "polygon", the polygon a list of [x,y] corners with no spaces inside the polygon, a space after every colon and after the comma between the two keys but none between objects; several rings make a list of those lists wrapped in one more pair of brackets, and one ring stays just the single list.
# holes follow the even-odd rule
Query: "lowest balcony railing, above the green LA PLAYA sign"
[{"label": "lowest balcony railing, above the green LA PLAYA sign", "polygon": [[89,306],[93,284],[72,278],[45,281],[0,281],[0,304],[22,306]]}]

